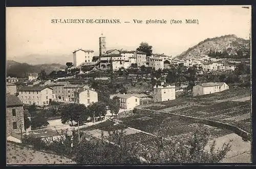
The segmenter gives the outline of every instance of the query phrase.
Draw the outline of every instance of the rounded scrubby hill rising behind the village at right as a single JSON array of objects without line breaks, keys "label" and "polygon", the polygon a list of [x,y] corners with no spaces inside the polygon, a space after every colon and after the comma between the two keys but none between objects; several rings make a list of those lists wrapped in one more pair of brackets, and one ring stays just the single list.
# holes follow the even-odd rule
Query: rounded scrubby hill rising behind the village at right
[{"label": "rounded scrubby hill rising behind the village at right", "polygon": [[197,45],[188,48],[186,51],[178,55],[177,58],[200,59],[203,55],[221,58],[248,58],[249,53],[249,40],[238,38],[236,35],[225,35],[216,38],[207,38],[204,41],[199,42]]}]

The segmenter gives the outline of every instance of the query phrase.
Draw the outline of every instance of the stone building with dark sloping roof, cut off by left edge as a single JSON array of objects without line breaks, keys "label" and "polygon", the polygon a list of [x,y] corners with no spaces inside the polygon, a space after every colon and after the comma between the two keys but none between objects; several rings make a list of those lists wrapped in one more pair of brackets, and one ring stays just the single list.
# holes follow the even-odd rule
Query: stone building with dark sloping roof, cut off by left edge
[{"label": "stone building with dark sloping roof, cut off by left edge", "polygon": [[23,102],[14,95],[6,95],[6,137],[24,132]]}]

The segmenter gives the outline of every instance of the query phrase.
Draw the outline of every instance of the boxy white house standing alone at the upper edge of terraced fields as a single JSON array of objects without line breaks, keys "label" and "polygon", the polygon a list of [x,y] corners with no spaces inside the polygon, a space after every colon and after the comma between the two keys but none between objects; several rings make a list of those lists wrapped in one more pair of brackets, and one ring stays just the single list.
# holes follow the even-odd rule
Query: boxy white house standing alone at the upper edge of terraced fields
[{"label": "boxy white house standing alone at the upper edge of terraced fields", "polygon": [[176,99],[175,86],[154,86],[153,93],[154,102]]}]

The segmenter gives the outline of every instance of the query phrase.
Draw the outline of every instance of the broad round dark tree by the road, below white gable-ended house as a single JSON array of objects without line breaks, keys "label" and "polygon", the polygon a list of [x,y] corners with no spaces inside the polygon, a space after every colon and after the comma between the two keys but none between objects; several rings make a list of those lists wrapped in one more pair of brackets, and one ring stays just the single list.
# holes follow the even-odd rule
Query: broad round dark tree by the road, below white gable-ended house
[{"label": "broad round dark tree by the road, below white gable-ended house", "polygon": [[73,121],[82,124],[86,122],[90,116],[87,107],[83,104],[66,104],[61,106],[59,111],[61,113],[61,123],[65,124],[66,122],[71,121],[72,126]]}]

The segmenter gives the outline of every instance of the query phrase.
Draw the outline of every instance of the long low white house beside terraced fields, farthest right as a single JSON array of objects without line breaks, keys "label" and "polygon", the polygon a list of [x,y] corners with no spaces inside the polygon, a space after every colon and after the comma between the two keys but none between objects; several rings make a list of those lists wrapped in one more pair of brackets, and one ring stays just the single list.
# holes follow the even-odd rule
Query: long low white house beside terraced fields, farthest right
[{"label": "long low white house beside terraced fields, farthest right", "polygon": [[225,82],[208,82],[198,84],[193,87],[193,96],[207,95],[211,93],[228,90],[229,87]]}]

